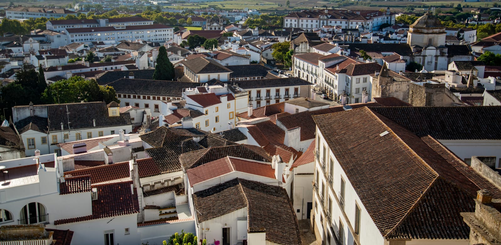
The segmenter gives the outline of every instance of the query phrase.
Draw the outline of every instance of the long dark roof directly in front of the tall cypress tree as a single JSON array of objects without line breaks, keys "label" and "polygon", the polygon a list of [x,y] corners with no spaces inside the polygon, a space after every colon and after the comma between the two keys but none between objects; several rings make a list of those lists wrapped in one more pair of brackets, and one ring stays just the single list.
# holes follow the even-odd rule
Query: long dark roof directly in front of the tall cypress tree
[{"label": "long dark roof directly in front of the tall cypress tree", "polygon": [[120,78],[108,85],[113,86],[117,93],[181,97],[184,88],[204,83]]}]

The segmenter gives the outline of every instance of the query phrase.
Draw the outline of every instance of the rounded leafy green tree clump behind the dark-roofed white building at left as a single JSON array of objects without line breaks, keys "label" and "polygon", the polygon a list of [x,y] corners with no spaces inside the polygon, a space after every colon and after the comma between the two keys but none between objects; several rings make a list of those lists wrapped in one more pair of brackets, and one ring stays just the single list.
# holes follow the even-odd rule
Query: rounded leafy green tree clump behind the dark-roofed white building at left
[{"label": "rounded leafy green tree clump behind the dark-roofed white building at left", "polygon": [[45,103],[78,103],[81,101],[111,101],[119,102],[115,89],[111,86],[101,86],[96,80],[86,80],[81,76],[59,80],[47,86],[42,93]]}]

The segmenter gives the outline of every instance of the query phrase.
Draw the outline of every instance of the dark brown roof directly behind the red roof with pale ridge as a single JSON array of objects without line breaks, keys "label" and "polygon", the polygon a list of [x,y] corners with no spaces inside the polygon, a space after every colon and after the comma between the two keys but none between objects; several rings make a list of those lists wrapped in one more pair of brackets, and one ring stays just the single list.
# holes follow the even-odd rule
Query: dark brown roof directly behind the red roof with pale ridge
[{"label": "dark brown roof directly behind the red roof with pale ridge", "polygon": [[248,144],[217,146],[187,152],[179,156],[179,161],[184,169],[188,169],[225,156],[271,162],[271,157],[266,150],[259,146]]}]

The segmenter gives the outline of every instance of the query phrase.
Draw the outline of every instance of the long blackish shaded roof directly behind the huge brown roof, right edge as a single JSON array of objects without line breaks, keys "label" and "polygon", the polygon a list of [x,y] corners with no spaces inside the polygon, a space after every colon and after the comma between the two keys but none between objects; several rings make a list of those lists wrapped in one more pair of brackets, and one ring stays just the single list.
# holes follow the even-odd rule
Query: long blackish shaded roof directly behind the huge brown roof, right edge
[{"label": "long blackish shaded roof directly behind the huge brown roof, right edge", "polygon": [[[418,136],[501,139],[501,106],[372,107]],[[482,123],[478,123],[482,118]],[[450,126],[454,125],[454,126]]]}]

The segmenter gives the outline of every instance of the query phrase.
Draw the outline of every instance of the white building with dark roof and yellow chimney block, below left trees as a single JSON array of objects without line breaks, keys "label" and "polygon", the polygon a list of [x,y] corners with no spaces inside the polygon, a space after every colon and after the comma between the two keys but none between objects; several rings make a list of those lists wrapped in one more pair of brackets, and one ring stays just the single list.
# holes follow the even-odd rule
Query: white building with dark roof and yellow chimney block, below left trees
[{"label": "white building with dark roof and yellow chimney block, below left trees", "polygon": [[111,102],[14,106],[13,121],[23,138],[26,155],[59,152],[58,143],[131,132],[129,113],[120,113]]}]

